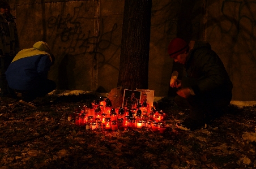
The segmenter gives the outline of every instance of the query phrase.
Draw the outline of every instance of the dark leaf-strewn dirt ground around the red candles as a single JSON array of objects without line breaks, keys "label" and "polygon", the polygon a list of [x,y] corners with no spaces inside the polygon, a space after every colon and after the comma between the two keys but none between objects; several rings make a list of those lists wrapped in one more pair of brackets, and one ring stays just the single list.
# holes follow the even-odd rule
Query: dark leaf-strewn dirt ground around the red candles
[{"label": "dark leaf-strewn dirt ground around the red candles", "polygon": [[93,94],[46,96],[31,109],[1,102],[0,169],[7,168],[256,168],[256,107],[229,106],[206,128],[180,131],[189,114],[168,99],[165,133],[151,129],[91,131],[69,122]]}]

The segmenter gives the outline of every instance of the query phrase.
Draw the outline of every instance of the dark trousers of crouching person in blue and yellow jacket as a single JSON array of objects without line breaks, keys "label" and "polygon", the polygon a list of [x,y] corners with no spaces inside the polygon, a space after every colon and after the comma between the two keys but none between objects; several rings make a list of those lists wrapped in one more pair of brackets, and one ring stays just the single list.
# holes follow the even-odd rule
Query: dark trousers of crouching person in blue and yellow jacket
[{"label": "dark trousers of crouching person in blue and yellow jacket", "polygon": [[42,80],[37,89],[33,90],[17,90],[17,92],[22,93],[22,99],[25,102],[31,102],[37,97],[45,96],[46,94],[52,92],[56,89],[56,83],[52,80],[45,79]]}]

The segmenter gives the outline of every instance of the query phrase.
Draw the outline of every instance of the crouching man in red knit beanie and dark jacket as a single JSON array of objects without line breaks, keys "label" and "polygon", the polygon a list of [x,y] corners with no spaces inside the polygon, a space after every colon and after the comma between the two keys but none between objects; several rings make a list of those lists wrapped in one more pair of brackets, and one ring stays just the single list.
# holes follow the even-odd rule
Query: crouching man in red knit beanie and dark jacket
[{"label": "crouching man in red knit beanie and dark jacket", "polygon": [[168,53],[174,62],[184,64],[186,76],[172,88],[180,88],[175,97],[177,105],[187,104],[190,117],[177,128],[192,131],[223,115],[223,109],[232,99],[233,84],[223,62],[206,41],[190,41],[174,38]]}]

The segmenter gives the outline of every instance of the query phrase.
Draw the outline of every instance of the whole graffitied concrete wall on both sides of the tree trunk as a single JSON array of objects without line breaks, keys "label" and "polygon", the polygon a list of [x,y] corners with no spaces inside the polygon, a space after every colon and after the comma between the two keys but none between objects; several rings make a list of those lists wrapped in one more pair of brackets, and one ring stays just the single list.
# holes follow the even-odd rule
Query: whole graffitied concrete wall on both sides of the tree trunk
[{"label": "whole graffitied concrete wall on both sides of the tree trunk", "polygon": [[[22,49],[45,41],[56,56],[58,89],[109,92],[117,87],[124,0],[10,0]],[[207,3],[206,3],[207,2]],[[256,99],[256,1],[152,0],[148,88],[167,96],[174,37],[210,42],[231,80],[233,100]]]}]

